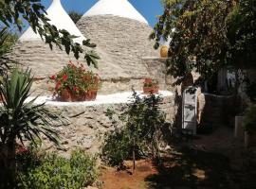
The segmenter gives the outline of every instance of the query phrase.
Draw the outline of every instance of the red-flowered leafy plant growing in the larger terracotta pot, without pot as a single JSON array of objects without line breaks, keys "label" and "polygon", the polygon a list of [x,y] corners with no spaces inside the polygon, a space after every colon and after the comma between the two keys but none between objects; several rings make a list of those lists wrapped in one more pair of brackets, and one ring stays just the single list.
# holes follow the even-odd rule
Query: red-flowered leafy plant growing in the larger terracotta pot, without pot
[{"label": "red-flowered leafy plant growing in the larger terracotta pot, without pot", "polygon": [[82,63],[75,65],[72,61],[69,61],[59,73],[50,77],[50,80],[55,82],[54,92],[59,95],[64,90],[68,90],[72,94],[85,94],[88,91],[97,91],[101,84],[98,74],[87,71]]}]

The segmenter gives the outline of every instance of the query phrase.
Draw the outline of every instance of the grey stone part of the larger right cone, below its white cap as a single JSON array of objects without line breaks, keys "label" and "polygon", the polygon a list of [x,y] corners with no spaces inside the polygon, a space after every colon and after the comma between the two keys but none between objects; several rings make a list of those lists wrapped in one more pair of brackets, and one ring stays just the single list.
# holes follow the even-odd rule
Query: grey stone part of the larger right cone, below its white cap
[{"label": "grey stone part of the larger right cone, below its white cap", "polygon": [[[148,77],[142,57],[158,56],[154,43],[148,40],[152,28],[136,20],[112,15],[82,17],[77,23],[82,34],[103,49],[101,64],[119,68],[128,78]],[[119,76],[118,75],[118,76]],[[110,73],[109,77],[116,77]]]}]

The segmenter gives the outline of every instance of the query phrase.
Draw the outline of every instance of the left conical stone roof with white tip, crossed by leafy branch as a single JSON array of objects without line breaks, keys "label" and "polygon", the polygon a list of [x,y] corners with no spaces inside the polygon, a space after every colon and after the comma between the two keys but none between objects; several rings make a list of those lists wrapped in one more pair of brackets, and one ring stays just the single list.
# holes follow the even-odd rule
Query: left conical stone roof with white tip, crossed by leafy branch
[{"label": "left conical stone roof with white tip, crossed by leafy branch", "polygon": [[[58,29],[65,29],[70,34],[79,36],[75,42],[82,43],[82,40],[85,40],[82,32],[63,9],[60,0],[53,0],[46,12],[51,24],[57,26]],[[67,55],[57,46],[53,46],[51,50],[49,45],[43,42],[31,27],[27,28],[14,45],[9,59],[16,60],[24,67],[31,68],[35,77],[52,76],[60,71],[69,60],[75,61],[72,53]]]}]

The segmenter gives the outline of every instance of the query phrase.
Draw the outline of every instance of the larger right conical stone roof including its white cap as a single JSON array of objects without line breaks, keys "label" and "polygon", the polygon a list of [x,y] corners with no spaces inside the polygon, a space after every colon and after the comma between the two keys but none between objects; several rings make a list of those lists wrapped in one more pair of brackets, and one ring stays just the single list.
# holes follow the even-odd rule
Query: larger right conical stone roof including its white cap
[{"label": "larger right conical stone roof including its white cap", "polygon": [[149,77],[141,59],[158,55],[149,41],[152,27],[127,0],[100,0],[77,26],[104,52],[101,65],[106,67],[100,65],[101,76],[113,80]]}]

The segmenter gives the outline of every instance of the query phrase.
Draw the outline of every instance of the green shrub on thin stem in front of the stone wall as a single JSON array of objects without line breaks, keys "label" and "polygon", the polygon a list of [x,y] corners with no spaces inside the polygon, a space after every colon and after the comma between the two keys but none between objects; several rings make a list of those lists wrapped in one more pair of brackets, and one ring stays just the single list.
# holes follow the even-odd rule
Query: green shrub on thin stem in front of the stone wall
[{"label": "green shrub on thin stem in front of the stone wall", "polygon": [[134,93],[124,112],[118,116],[114,116],[117,115],[114,111],[106,112],[116,129],[105,135],[101,151],[103,161],[121,167],[129,158],[135,161],[136,157],[158,157],[165,122],[165,114],[159,109],[161,101],[159,95],[140,97]]}]

